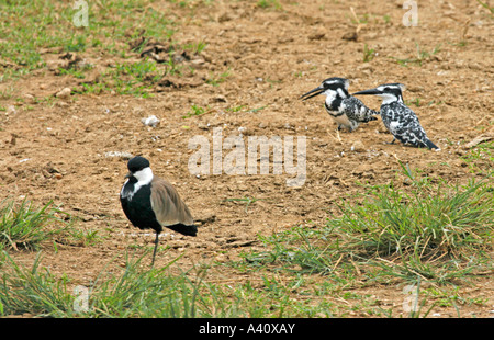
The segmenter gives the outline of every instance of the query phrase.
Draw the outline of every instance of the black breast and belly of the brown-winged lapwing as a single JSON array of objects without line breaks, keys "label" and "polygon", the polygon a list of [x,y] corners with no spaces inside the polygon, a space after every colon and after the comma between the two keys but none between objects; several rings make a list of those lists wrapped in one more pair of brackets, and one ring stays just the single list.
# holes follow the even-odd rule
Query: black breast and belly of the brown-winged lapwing
[{"label": "black breast and belly of the brown-winged lapwing", "polygon": [[125,216],[131,223],[141,229],[154,229],[157,233],[162,231],[161,225],[156,219],[155,212],[150,204],[150,184],[141,186],[134,195],[134,183],[128,181],[122,190],[120,202]]}]

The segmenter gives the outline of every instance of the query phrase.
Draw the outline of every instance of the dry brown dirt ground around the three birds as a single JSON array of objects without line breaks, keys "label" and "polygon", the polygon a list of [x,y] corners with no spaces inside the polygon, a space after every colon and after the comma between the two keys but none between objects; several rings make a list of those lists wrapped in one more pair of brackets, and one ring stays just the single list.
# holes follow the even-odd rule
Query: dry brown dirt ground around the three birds
[{"label": "dry brown dirt ground around the three birds", "polygon": [[[38,205],[53,200],[79,217],[79,225],[104,236],[89,247],[59,245],[57,252],[48,245],[43,265],[88,284],[112,259],[110,265],[122,265],[131,245],[151,247],[153,234],[132,227],[122,213],[119,192],[126,159],[111,152],[147,157],[154,172],[176,185],[194,217],[207,219],[197,238],[164,233],[161,245],[170,248],[158,254],[158,267],[180,253],[183,265],[235,260],[240,251],[261,246],[258,235],[323,225],[332,213],[338,214],[335,203],[362,192],[359,183],[378,185],[396,179],[397,160],[448,183],[480,179],[491,169],[487,159],[472,165],[462,158],[470,151],[465,144],[494,136],[493,19],[485,8],[475,1],[419,1],[418,25],[407,27],[402,24],[406,13],[402,1],[272,3],[280,5],[153,3],[180,22],[173,39],[203,41],[207,46],[182,61],[195,72],[169,77],[155,86],[149,98],[111,92],[55,98],[63,88],[78,89],[80,80],[45,68],[16,81],[13,98],[0,100],[0,106],[8,107],[0,116],[1,196],[27,196]],[[420,64],[397,63],[396,58],[417,59],[417,46],[428,53],[422,55]],[[370,49],[374,53],[366,54]],[[48,61],[60,57],[61,53],[44,55]],[[91,50],[79,57],[94,64],[94,72],[117,61],[115,56],[94,56]],[[205,81],[222,73],[224,81]],[[324,111],[323,97],[299,99],[328,77],[348,78],[350,92],[385,82],[405,83],[405,101],[442,150],[386,145],[392,137],[380,118],[353,133],[337,133]],[[48,95],[53,95],[50,104],[32,100]],[[379,99],[362,100],[379,109]],[[192,105],[206,112],[183,118]],[[150,115],[160,120],[156,127],[142,123]],[[242,132],[246,143],[249,135],[294,136],[295,140],[305,136],[305,183],[288,186],[285,180],[292,175],[285,172],[191,174],[188,161],[195,150],[188,148],[189,139],[199,135],[212,141],[214,127],[222,128],[223,138]],[[242,197],[258,201],[248,207],[227,201]],[[35,253],[12,256],[31,263]],[[225,268],[213,268],[210,275],[214,282],[249,279]],[[375,286],[358,293],[400,306],[402,288]],[[465,297],[489,301],[462,307],[462,316],[492,317],[492,276],[462,290]],[[457,315],[453,308],[439,313]]]}]

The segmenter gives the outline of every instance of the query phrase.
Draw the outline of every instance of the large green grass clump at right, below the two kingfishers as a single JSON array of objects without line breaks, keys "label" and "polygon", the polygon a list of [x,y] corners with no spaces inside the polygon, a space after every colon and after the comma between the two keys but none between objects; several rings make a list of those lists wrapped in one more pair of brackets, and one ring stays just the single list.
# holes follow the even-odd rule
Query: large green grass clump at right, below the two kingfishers
[{"label": "large green grass clump at right, below the two kingfishers", "polygon": [[433,185],[403,166],[408,186],[371,188],[358,204],[317,228],[294,227],[261,238],[263,252],[245,254],[250,268],[318,273],[348,284],[417,279],[439,284],[491,268],[494,190],[491,178],[467,185]]}]

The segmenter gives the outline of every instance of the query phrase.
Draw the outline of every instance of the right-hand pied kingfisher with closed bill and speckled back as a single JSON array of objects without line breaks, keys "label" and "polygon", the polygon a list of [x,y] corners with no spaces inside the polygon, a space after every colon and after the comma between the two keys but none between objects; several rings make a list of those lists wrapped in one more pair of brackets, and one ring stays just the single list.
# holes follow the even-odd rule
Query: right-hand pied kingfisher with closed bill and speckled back
[{"label": "right-hand pied kingfisher with closed bill and speckled back", "polygon": [[427,134],[418,122],[418,117],[403,102],[402,91],[405,86],[402,83],[385,83],[375,89],[364,90],[356,94],[374,94],[382,98],[381,118],[384,126],[393,135],[393,140],[400,140],[405,145],[414,147],[426,147],[429,149],[440,149],[427,138]]}]

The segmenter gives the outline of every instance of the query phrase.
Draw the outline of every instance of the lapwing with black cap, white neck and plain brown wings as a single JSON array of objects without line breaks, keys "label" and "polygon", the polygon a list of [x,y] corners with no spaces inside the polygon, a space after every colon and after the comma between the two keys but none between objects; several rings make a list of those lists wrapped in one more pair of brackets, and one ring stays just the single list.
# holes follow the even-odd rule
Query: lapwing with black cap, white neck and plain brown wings
[{"label": "lapwing with black cap, white neck and plain brown wings", "polygon": [[154,265],[162,227],[188,236],[195,236],[198,228],[177,190],[166,180],[153,174],[146,158],[132,158],[127,168],[130,172],[125,175],[127,180],[120,192],[120,202],[125,216],[134,226],[156,231]]}]

